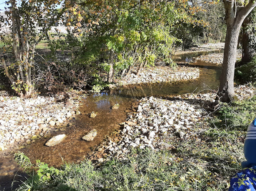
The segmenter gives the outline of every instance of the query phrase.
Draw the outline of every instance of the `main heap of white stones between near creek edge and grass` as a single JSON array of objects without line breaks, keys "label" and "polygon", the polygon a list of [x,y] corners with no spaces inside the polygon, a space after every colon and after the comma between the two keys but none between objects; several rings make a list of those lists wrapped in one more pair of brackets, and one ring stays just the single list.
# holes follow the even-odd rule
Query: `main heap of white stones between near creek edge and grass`
[{"label": "main heap of white stones between near creek edge and grass", "polygon": [[[130,115],[122,124],[121,141],[112,142],[98,147],[98,151],[105,150],[108,155],[120,155],[124,158],[130,148],[157,149],[162,144],[162,136],[177,136],[186,138],[193,134],[192,125],[205,112],[200,105],[188,100],[163,100],[146,97],[140,100],[135,116]],[[102,162],[104,159],[98,159]]]}]

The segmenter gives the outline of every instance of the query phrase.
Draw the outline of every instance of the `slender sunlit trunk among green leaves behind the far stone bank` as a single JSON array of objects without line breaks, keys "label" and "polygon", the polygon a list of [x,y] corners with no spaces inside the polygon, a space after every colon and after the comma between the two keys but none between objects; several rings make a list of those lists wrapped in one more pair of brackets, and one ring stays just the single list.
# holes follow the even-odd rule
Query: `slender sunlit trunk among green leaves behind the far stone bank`
[{"label": "slender sunlit trunk among green leaves behind the far stone bank", "polygon": [[[112,32],[112,36],[114,36],[117,32],[117,28],[118,28],[118,19],[119,17],[121,16],[121,8],[122,8],[122,5],[123,5],[123,0],[120,0],[119,4],[118,4],[118,10],[120,11],[119,15],[116,15],[116,18],[115,18],[115,26],[113,28],[113,32]],[[115,57],[115,53],[114,53],[114,50],[110,50],[110,54],[109,54],[109,64],[110,64],[110,69],[109,69],[109,72],[107,74],[107,81],[109,83],[112,82],[113,80],[113,74],[114,74],[114,68],[113,68],[113,65],[114,65],[114,57]]]}]

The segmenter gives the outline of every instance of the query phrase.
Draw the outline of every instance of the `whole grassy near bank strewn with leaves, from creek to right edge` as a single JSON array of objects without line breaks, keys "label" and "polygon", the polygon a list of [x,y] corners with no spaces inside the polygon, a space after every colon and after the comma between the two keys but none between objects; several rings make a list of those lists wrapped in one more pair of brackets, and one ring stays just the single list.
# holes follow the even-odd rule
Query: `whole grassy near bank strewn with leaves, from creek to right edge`
[{"label": "whole grassy near bank strewn with leaves, from creek to right edge", "polygon": [[[16,159],[26,165],[30,178],[18,191],[164,191],[224,190],[244,160],[246,127],[256,115],[252,99],[222,104],[215,117],[201,119],[189,138],[164,138],[168,146],[159,150],[133,150],[127,160],[112,159],[95,167],[85,160],[64,163],[61,170],[37,162],[31,164],[23,154]],[[196,135],[196,136],[195,136]]]}]

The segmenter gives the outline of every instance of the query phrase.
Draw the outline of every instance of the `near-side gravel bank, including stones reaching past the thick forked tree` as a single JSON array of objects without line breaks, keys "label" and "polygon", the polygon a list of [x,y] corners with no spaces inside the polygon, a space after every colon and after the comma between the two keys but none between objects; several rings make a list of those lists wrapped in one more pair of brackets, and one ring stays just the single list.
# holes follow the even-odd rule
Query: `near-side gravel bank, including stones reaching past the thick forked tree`
[{"label": "near-side gravel bank, including stones reaching past the thick forked tree", "polygon": [[[247,86],[235,88],[238,99],[255,95],[256,89]],[[139,100],[136,112],[130,113],[122,128],[108,136],[95,151],[91,160],[104,162],[112,157],[126,159],[132,148],[161,149],[169,147],[164,137],[174,139],[195,138],[193,126],[208,116],[208,106],[215,102],[216,92],[185,94],[172,100],[145,97]]]}]

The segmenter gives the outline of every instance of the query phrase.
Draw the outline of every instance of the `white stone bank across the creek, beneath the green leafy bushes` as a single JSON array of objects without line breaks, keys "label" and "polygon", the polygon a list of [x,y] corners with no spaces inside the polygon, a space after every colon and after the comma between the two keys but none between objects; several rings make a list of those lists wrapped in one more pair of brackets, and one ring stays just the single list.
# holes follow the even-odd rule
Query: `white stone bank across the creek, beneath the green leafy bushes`
[{"label": "white stone bank across the creek, beneath the green leafy bushes", "polygon": [[122,78],[119,84],[156,83],[168,81],[189,80],[199,77],[200,70],[192,67],[155,67],[142,69],[139,76],[132,73]]}]

